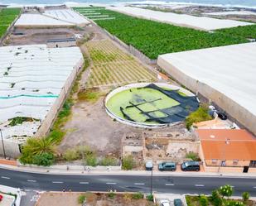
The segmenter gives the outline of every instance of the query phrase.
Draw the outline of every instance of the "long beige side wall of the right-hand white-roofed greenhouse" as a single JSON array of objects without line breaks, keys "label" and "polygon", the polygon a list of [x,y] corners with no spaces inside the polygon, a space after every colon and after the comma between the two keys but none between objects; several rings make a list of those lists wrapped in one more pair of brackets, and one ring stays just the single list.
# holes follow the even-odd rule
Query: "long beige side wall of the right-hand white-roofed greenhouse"
[{"label": "long beige side wall of the right-hand white-roofed greenhouse", "polygon": [[157,65],[164,69],[167,74],[170,74],[171,77],[176,79],[179,83],[186,86],[186,88],[210,99],[210,101],[224,109],[226,113],[229,113],[230,116],[234,117],[240,124],[244,125],[244,127],[248,128],[250,132],[253,132],[254,135],[256,135],[256,117],[253,113],[250,113],[247,109],[225,96],[224,93],[220,93],[218,90],[211,88],[210,85],[203,84],[184,74],[180,69],[171,65],[166,60],[163,60],[161,56],[158,57]]}]

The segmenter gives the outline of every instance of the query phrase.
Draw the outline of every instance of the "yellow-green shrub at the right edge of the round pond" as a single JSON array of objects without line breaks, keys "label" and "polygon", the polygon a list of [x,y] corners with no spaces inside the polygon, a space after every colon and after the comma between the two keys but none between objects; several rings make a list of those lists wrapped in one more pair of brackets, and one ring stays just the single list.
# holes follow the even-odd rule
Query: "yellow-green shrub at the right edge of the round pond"
[{"label": "yellow-green shrub at the right edge of the round pond", "polygon": [[186,128],[189,130],[194,122],[203,122],[211,119],[212,117],[208,113],[208,108],[201,106],[195,112],[186,117]]}]

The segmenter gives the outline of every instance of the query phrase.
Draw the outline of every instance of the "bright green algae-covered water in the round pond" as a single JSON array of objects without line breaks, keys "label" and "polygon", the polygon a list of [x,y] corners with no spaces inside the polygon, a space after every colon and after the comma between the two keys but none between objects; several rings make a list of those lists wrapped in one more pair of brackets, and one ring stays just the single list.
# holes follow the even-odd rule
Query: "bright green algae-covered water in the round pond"
[{"label": "bright green algae-covered water in the round pond", "polygon": [[[163,108],[171,108],[179,105],[176,100],[167,97],[164,93],[150,88],[126,89],[114,94],[106,103],[107,108],[114,115],[127,119],[123,112],[131,117],[135,122],[147,122],[147,116],[143,112],[151,112],[153,117],[167,117],[165,113],[158,111]],[[138,108],[133,107],[138,105]],[[156,124],[157,122],[147,122]]]}]

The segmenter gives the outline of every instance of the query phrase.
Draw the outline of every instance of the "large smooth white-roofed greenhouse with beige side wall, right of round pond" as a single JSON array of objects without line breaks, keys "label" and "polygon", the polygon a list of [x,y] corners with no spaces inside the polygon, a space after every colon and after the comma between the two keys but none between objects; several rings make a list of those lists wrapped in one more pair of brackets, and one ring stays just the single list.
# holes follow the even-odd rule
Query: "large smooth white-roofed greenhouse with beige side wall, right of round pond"
[{"label": "large smooth white-roofed greenhouse with beige side wall, right of round pond", "polygon": [[256,43],[159,55],[157,64],[256,134]]}]

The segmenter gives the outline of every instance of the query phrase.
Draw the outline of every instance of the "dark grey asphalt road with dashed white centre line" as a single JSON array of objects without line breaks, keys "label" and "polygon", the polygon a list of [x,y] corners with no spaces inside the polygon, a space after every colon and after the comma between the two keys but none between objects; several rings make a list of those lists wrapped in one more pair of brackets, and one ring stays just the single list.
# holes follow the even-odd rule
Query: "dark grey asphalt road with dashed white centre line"
[{"label": "dark grey asphalt road with dashed white centre line", "polygon": [[[164,173],[163,173],[164,174]],[[0,169],[0,184],[28,190],[140,191],[150,192],[148,175],[48,175]],[[152,191],[172,194],[210,194],[224,184],[234,186],[234,195],[247,191],[256,196],[256,178],[154,176]]]}]

